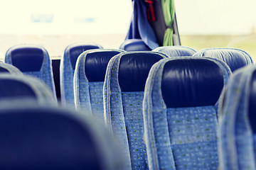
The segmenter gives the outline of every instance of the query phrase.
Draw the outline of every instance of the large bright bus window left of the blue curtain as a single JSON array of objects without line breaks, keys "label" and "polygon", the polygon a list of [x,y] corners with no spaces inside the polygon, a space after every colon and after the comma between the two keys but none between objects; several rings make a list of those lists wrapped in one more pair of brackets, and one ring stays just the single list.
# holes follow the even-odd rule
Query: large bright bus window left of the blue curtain
[{"label": "large bright bus window left of the blue curtain", "polygon": [[130,0],[9,0],[0,10],[0,57],[13,45],[43,45],[50,57],[74,42],[118,48],[132,17]]}]

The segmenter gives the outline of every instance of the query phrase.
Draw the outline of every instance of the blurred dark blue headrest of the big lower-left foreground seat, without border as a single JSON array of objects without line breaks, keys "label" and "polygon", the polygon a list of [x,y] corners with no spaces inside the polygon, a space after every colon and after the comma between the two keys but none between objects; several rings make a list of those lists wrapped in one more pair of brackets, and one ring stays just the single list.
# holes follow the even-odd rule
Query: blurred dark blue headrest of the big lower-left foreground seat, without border
[{"label": "blurred dark blue headrest of the big lower-left foreground seat, without border", "polygon": [[0,114],[1,169],[100,169],[90,128],[46,108]]}]

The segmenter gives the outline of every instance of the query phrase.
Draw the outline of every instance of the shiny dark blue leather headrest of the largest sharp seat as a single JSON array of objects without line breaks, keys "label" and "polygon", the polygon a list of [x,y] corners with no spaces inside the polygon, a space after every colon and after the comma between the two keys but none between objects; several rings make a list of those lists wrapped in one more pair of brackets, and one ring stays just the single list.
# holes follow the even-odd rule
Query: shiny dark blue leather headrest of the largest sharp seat
[{"label": "shiny dark blue leather headrest of the largest sharp seat", "polygon": [[167,108],[213,106],[223,89],[223,73],[210,60],[171,60],[164,66],[161,91]]}]

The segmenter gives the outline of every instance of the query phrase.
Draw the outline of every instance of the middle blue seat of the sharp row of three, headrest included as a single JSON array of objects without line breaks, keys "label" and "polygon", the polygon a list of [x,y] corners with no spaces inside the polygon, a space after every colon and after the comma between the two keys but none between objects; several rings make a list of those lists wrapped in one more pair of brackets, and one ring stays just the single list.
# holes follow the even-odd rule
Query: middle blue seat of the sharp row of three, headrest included
[{"label": "middle blue seat of the sharp row of three, headrest included", "polygon": [[167,57],[159,52],[124,52],[107,65],[103,86],[105,123],[126,152],[127,169],[148,169],[143,142],[142,101],[151,66]]}]

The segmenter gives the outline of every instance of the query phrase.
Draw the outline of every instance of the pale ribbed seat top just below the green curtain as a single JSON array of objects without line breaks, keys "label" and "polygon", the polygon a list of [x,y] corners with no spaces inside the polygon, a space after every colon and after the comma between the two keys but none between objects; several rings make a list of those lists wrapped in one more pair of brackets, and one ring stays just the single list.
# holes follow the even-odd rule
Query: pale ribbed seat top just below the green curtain
[{"label": "pale ribbed seat top just below the green curtain", "polygon": [[154,50],[156,52],[164,52],[164,54],[169,55],[169,57],[179,57],[179,56],[192,56],[196,53],[191,47],[185,46],[164,46],[164,47],[156,47]]}]

